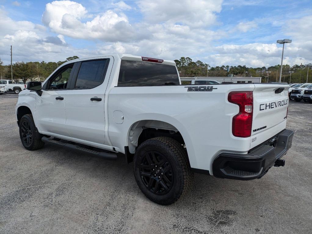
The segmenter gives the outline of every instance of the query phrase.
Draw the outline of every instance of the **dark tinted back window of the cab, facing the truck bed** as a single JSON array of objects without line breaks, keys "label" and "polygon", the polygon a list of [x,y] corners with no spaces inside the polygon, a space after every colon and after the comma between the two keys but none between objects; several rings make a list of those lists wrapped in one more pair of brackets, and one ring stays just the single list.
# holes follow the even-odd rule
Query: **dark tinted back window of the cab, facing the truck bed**
[{"label": "dark tinted back window of the cab, facing the truck bed", "polygon": [[175,66],[167,64],[121,60],[118,86],[179,85]]}]

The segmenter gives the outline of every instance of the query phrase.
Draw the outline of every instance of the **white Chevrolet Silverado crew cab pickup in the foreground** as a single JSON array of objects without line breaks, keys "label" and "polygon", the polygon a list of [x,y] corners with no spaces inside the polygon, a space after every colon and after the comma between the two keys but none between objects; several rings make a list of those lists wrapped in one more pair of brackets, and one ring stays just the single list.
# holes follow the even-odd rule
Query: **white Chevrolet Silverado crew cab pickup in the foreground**
[{"label": "white Chevrolet Silverado crew cab pickup in the foreground", "polygon": [[126,54],[62,64],[19,93],[22,145],[122,153],[142,192],[163,205],[190,189],[194,172],[248,180],[284,165],[288,84],[181,85],[175,65]]}]

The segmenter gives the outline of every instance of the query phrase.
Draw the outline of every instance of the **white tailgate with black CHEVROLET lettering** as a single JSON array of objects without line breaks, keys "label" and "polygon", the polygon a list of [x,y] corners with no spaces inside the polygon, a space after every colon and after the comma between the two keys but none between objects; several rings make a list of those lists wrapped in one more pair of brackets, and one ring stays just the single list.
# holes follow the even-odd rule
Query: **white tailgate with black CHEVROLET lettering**
[{"label": "white tailgate with black CHEVROLET lettering", "polygon": [[288,84],[255,84],[250,148],[286,127]]}]

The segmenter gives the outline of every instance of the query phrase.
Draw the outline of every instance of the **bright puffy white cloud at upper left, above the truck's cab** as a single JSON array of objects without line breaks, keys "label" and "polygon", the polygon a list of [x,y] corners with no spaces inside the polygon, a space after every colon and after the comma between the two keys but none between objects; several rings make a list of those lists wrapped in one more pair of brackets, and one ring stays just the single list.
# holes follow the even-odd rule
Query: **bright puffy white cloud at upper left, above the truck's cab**
[{"label": "bright puffy white cloud at upper left, above the truck's cab", "polygon": [[[116,4],[126,6],[122,2]],[[123,13],[108,10],[91,21],[81,21],[87,17],[87,10],[80,3],[54,1],[46,4],[42,22],[52,31],[73,38],[131,41],[139,36]]]}]

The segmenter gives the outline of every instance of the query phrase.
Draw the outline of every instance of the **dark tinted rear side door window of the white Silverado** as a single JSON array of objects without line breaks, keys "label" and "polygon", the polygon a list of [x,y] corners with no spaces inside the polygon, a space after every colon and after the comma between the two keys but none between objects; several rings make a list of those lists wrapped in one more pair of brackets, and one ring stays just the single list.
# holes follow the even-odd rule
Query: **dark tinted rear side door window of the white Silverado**
[{"label": "dark tinted rear side door window of the white Silverado", "polygon": [[82,62],[75,88],[95,88],[102,84],[108,62],[108,59]]}]

